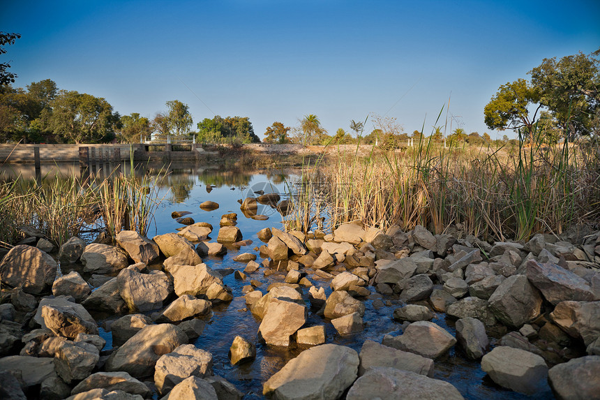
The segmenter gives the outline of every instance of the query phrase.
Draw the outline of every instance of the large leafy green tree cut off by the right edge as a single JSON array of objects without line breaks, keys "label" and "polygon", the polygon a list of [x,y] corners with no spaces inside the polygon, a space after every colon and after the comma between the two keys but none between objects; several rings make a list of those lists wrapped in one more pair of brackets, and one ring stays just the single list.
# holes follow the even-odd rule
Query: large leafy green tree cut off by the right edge
[{"label": "large leafy green tree cut off by the right edge", "polygon": [[[599,50],[600,51],[600,50]],[[600,60],[583,53],[543,59],[530,71],[539,102],[571,137],[589,135],[600,104]]]}]

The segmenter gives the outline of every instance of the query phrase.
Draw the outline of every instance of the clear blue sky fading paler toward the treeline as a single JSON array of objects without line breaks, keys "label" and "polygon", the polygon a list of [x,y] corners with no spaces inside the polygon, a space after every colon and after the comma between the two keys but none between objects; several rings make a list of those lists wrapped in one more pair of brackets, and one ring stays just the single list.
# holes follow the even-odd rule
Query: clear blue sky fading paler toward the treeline
[{"label": "clear blue sky fading paler toward the treeline", "polygon": [[249,117],[264,138],[307,114],[330,134],[378,114],[428,135],[441,112],[447,133],[495,139],[514,137],[483,121],[498,87],[598,50],[600,1],[4,0],[0,30],[22,35],[0,56],[15,87],[49,78],[121,115],[177,99],[194,129]]}]

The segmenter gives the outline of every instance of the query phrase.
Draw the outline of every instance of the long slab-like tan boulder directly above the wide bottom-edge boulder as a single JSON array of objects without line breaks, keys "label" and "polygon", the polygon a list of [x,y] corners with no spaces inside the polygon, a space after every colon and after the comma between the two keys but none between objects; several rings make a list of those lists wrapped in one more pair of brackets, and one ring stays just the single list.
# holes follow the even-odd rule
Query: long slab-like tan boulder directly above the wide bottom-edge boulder
[{"label": "long slab-like tan boulder directly above the wide bottom-edge boulder", "polygon": [[384,346],[371,340],[363,343],[360,358],[359,376],[370,369],[389,366],[433,378],[433,360],[430,358]]}]

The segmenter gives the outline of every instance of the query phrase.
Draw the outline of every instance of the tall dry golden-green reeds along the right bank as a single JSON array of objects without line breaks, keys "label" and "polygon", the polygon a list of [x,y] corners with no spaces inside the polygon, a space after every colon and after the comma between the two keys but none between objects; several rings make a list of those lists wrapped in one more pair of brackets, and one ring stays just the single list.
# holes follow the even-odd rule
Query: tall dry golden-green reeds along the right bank
[{"label": "tall dry golden-green reeds along the right bank", "polygon": [[325,216],[329,228],[358,220],[382,230],[423,225],[436,234],[460,224],[465,235],[496,240],[597,224],[599,147],[545,145],[543,132],[519,143],[507,149],[421,140],[403,151],[374,146],[366,157],[340,151],[333,163],[305,168],[311,183],[296,196],[292,219],[305,230]]}]

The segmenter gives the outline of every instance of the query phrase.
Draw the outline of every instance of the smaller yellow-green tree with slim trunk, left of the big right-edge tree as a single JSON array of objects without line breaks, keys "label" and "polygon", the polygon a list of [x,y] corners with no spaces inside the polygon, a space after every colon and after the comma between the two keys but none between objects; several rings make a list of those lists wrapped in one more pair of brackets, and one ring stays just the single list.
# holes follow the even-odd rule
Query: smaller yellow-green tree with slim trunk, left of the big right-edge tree
[{"label": "smaller yellow-green tree with slim trunk, left of the big right-edge tree", "polygon": [[[490,129],[500,131],[525,128],[525,132],[532,142],[535,119],[541,107],[539,101],[539,89],[531,86],[524,79],[503,84],[483,109],[486,125]],[[529,108],[532,105],[537,105],[537,108],[530,117]]]}]

